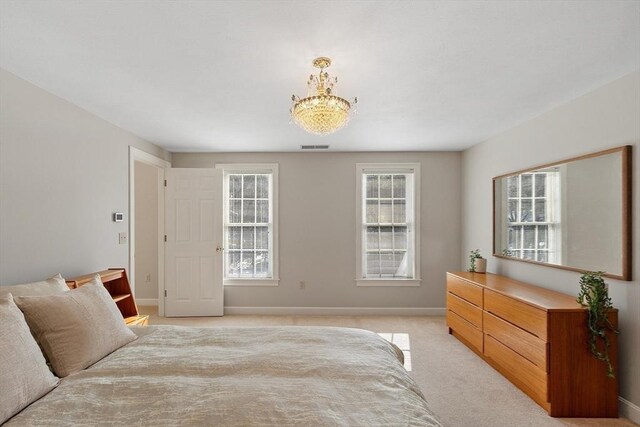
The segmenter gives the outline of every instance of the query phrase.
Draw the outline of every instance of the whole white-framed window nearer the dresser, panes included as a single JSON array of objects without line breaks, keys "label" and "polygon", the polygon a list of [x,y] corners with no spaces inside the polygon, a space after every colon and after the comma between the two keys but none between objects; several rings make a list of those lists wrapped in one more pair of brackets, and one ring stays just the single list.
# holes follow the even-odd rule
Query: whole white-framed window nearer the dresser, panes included
[{"label": "whole white-framed window nearer the dresser, panes included", "polygon": [[359,286],[419,286],[419,164],[358,164]]}]

